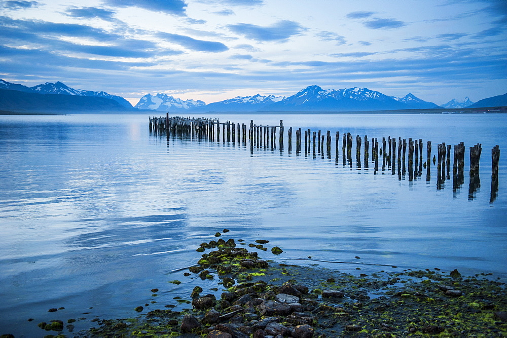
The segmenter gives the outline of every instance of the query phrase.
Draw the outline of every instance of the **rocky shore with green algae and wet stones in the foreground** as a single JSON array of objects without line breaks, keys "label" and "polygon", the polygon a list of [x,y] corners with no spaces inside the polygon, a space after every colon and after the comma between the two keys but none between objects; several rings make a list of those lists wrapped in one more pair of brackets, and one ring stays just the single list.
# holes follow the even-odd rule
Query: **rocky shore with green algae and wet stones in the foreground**
[{"label": "rocky shore with green algae and wet stones in the foreground", "polygon": [[182,278],[214,280],[216,288],[196,286],[175,297],[191,309],[167,305],[137,318],[98,320],[86,332],[70,333],[70,322],[65,328],[62,321],[39,325],[60,337],[507,336],[505,284],[488,274],[407,269],[353,276],[261,259],[259,252],[282,252],[268,243],[222,238],[202,243],[201,259]]}]

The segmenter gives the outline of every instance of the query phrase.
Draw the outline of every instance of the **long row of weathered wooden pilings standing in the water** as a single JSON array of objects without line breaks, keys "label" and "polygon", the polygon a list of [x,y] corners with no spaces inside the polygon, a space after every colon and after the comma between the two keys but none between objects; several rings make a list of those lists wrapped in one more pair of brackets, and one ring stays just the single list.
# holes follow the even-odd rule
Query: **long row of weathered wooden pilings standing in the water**
[{"label": "long row of weathered wooden pilings standing in the water", "polygon": [[[153,133],[165,133],[167,136],[195,136],[199,138],[206,138],[210,141],[220,142],[238,142],[246,146],[247,141],[250,144],[250,151],[253,153],[254,148],[264,147],[273,151],[276,148],[276,139],[278,137],[278,147],[280,152],[283,152],[284,146],[284,126],[283,121],[280,120],[279,125],[255,125],[253,120],[250,125],[235,124],[230,121],[220,122],[219,119],[210,118],[183,118],[171,117],[167,114],[165,118],[154,117],[150,118],[150,131]],[[296,133],[296,155],[304,152],[305,156],[312,155],[316,158],[320,155],[322,159],[327,156],[331,159],[332,151],[332,136],[328,130],[325,135],[321,130],[312,131],[311,129],[302,130],[298,128]],[[221,135],[222,134],[222,135]],[[287,132],[288,152],[293,151],[293,128],[289,127]],[[304,148],[303,145],[304,135]],[[340,133],[337,131],[335,134],[335,162],[338,165],[339,158],[339,138]],[[364,142],[363,142],[364,141]],[[371,146],[370,146],[371,143]],[[350,133],[343,133],[341,151],[342,161],[345,167],[348,163],[352,168],[352,147],[353,135]],[[361,148],[364,149],[364,162],[361,164]],[[302,150],[303,149],[303,150]],[[423,142],[422,139],[402,139],[401,137],[391,138],[390,136],[382,137],[379,141],[377,138],[368,139],[368,135],[364,138],[356,135],[355,137],[355,158],[357,169],[364,166],[365,170],[369,170],[370,166],[370,149],[371,149],[371,163],[375,174],[379,171],[379,160],[381,159],[381,170],[383,172],[390,171],[392,175],[397,174],[401,180],[402,176],[408,173],[409,181],[417,180],[422,176],[423,168],[426,169],[426,181],[431,179],[431,162],[433,165],[437,163],[437,189],[443,189],[446,179],[451,178],[451,145],[441,143],[437,145],[437,156],[431,157],[432,145],[431,141],[426,143],[426,160],[423,161]],[[408,149],[408,167],[407,167],[407,149]],[[493,202],[497,196],[498,191],[498,163],[500,157],[499,146],[496,145],[492,149],[492,174],[491,174],[491,197],[490,202]],[[474,198],[475,192],[480,187],[479,180],[479,161],[482,153],[482,145],[476,144],[469,148],[470,155],[470,170],[469,177],[470,183],[468,186],[469,199]],[[459,187],[464,183],[464,156],[465,146],[463,142],[454,145],[453,165],[452,165],[452,179],[453,191],[456,192]],[[396,170],[397,169],[397,170]]]}]

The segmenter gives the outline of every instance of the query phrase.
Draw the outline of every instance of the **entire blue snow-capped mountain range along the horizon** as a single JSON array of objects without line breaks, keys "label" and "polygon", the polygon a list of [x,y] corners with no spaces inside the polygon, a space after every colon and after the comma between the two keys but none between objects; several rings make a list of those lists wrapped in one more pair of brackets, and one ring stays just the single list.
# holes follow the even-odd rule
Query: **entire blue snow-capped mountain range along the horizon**
[{"label": "entire blue snow-capped mountain range along the horizon", "polygon": [[283,97],[275,95],[237,96],[212,102],[183,100],[165,93],[147,94],[132,105],[121,96],[102,91],[74,89],[61,82],[26,87],[0,79],[0,109],[22,111],[136,111],[156,110],[169,112],[206,111],[365,111],[397,109],[431,109],[506,106],[507,94],[473,103],[453,99],[442,106],[424,101],[412,93],[403,97],[387,96],[368,88],[322,89],[308,86],[298,93]]}]

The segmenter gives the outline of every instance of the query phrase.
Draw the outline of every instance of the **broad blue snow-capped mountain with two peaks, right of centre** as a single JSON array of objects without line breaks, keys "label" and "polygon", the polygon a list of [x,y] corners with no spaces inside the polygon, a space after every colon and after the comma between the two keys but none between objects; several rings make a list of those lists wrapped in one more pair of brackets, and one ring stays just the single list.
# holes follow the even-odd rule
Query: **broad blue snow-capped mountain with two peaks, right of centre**
[{"label": "broad blue snow-capped mountain with two peaks, right of centre", "polygon": [[324,90],[314,85],[306,87],[293,96],[269,105],[266,107],[266,110],[351,111],[410,108],[410,106],[403,102],[398,102],[387,95],[368,88],[354,87],[340,90]]}]

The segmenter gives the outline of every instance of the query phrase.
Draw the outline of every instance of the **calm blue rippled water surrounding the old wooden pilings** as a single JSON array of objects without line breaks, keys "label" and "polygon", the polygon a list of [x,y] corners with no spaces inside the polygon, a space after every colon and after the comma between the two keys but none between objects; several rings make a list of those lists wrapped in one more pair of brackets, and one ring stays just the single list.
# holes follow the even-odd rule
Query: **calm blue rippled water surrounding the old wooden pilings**
[{"label": "calm blue rippled water surrounding the old wooden pilings", "polygon": [[[463,141],[464,184],[453,192],[451,170],[437,190],[434,166],[429,182],[424,169],[413,181],[374,174],[372,164],[358,170],[355,151],[352,167],[341,152],[336,164],[334,146],[328,160],[297,156],[295,142],[291,154],[287,145],[250,154],[237,143],[167,139],[149,133],[148,116],[0,116],[0,334],[43,336],[39,322],[86,318],[74,323],[79,330],[96,317],[135,316],[151,301],[151,310],[176,304],[197,283],[213,287],[173,270],[193,264],[195,248],[224,228],[236,239],[270,240],[284,250],[277,260],[507,277],[505,115],[213,117],[339,131],[340,146],[344,132],[354,143],[356,134],[422,138],[424,158],[427,140],[432,154],[437,143]],[[468,146],[476,143],[481,186],[469,198]],[[495,144],[502,155],[490,203]],[[174,279],[183,283],[167,283]]]}]

